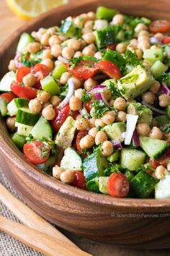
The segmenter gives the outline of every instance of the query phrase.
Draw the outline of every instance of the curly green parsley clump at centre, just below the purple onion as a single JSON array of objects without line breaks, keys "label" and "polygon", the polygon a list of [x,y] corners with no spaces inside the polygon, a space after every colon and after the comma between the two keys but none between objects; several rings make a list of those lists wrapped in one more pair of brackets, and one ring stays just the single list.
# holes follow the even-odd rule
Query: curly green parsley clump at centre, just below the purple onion
[{"label": "curly green parsley clump at centre, just below the purple onion", "polygon": [[93,116],[95,118],[100,118],[104,115],[105,112],[107,111],[115,111],[115,108],[112,106],[107,106],[104,104],[102,100],[96,100],[94,103],[92,103],[92,107],[94,108],[94,113]]}]

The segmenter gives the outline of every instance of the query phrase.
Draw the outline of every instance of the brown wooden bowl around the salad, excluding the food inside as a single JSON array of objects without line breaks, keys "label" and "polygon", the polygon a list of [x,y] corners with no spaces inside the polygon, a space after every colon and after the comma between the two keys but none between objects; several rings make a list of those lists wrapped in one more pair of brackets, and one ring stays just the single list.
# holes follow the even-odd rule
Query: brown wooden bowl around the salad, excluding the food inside
[{"label": "brown wooden bowl around the salad, excluding the food inside", "polygon": [[[0,75],[6,72],[9,60],[14,57],[20,33],[59,25],[63,18],[95,10],[99,5],[126,14],[169,19],[169,0],[76,1],[42,14],[11,35],[0,48]],[[122,247],[170,247],[169,199],[117,199],[58,182],[27,163],[9,139],[3,120],[0,121],[0,148],[0,163],[9,182],[27,205],[49,221],[89,239]]]}]

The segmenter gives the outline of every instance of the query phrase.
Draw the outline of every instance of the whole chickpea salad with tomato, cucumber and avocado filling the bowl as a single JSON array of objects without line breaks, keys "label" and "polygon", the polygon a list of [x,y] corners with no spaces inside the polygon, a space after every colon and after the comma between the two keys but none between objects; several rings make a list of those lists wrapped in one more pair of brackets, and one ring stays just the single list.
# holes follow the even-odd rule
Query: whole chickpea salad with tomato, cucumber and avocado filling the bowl
[{"label": "whole chickpea salad with tomato, cucumber and avocado filling the bowl", "polygon": [[12,141],[42,171],[112,197],[170,197],[169,21],[98,7],[23,33],[0,91]]}]

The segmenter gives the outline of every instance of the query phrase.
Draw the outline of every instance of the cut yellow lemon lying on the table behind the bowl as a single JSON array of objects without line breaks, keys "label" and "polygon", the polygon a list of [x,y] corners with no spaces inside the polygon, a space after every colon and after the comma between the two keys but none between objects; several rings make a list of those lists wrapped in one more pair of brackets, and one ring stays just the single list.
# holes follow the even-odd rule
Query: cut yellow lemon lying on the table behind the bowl
[{"label": "cut yellow lemon lying on the table behind the bowl", "polygon": [[68,0],[6,0],[12,12],[24,20],[31,20],[42,12],[67,3]]}]

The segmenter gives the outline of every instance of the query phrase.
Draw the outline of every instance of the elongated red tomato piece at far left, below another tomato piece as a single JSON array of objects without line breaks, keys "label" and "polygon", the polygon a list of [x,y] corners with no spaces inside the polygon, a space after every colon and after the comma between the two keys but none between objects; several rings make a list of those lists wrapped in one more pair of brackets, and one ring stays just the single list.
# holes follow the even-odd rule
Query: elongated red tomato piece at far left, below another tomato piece
[{"label": "elongated red tomato piece at far left, below another tomato piece", "polygon": [[19,98],[28,98],[32,100],[37,97],[37,90],[35,88],[24,87],[18,82],[12,82],[11,84],[12,93],[17,95]]}]

